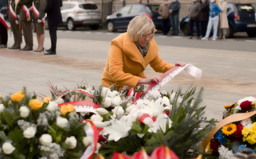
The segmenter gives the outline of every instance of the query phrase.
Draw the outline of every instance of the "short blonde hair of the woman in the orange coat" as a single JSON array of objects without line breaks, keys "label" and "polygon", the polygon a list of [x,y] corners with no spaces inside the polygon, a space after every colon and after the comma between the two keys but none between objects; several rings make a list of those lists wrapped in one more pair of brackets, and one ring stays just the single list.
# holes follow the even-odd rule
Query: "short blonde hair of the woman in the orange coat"
[{"label": "short blonde hair of the woman in the orange coat", "polygon": [[[131,20],[127,28],[127,33],[132,41],[137,42],[140,35],[143,35],[149,30],[151,30],[152,33],[155,33],[157,31],[155,27],[156,26],[147,15],[140,15]],[[153,37],[154,35],[150,37],[149,42],[153,39]]]}]

